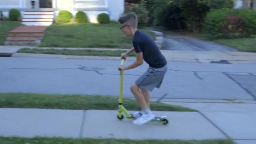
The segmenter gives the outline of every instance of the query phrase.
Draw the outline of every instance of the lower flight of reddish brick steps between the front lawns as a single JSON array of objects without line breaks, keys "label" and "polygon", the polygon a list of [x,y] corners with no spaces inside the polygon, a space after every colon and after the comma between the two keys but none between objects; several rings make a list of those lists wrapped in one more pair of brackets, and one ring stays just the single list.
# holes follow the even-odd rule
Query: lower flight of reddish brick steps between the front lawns
[{"label": "lower flight of reddish brick steps between the front lawns", "polygon": [[40,45],[43,40],[45,26],[20,26],[11,30],[5,40],[5,45]]}]

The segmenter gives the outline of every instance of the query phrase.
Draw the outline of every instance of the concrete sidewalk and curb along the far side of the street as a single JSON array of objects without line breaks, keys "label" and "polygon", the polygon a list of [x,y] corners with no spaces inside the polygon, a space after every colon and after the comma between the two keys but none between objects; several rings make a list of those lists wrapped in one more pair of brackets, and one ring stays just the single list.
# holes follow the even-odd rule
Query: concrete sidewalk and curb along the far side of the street
[{"label": "concrete sidewalk and curb along the far side of the street", "polygon": [[[0,56],[9,54],[10,56],[26,56],[26,57],[61,57],[69,59],[120,59],[120,57],[107,56],[65,56],[51,54],[32,54],[32,53],[16,53],[24,46],[0,46]],[[35,47],[26,47],[35,48]],[[42,48],[52,49],[52,48]],[[116,51],[128,49],[120,48],[53,48],[53,49],[68,49],[68,50],[98,50],[98,51]],[[256,53],[248,52],[232,52],[232,51],[169,51],[161,50],[168,61],[179,62],[197,62],[197,63],[231,63],[231,64],[256,64]],[[6,54],[7,53],[7,54]],[[135,58],[129,58],[135,59]]]}]

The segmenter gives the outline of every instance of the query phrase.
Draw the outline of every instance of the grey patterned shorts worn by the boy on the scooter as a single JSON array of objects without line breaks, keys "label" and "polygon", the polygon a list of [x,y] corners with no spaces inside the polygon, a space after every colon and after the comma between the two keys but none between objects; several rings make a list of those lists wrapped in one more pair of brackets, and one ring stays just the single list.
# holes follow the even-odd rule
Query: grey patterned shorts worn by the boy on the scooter
[{"label": "grey patterned shorts worn by the boy on the scooter", "polygon": [[167,70],[167,64],[157,69],[149,67],[147,71],[135,81],[135,85],[150,92],[153,91],[154,88],[160,88]]}]

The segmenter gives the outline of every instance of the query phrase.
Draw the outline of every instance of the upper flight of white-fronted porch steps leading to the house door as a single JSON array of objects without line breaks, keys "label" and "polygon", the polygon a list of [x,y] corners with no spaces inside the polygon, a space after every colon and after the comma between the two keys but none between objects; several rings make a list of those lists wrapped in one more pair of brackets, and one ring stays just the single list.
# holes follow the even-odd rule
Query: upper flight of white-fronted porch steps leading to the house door
[{"label": "upper flight of white-fronted porch steps leading to the house door", "polygon": [[21,23],[27,26],[49,26],[53,18],[53,11],[25,11]]}]

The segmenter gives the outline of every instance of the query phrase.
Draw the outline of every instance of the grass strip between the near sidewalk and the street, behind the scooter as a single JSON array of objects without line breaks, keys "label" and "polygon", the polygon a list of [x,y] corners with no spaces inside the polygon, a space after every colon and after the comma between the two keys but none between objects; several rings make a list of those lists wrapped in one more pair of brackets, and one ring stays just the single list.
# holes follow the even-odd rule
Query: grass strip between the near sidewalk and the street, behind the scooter
[{"label": "grass strip between the near sidewalk and the street, behind the scooter", "polygon": [[[42,109],[104,109],[117,110],[117,96],[89,95],[47,95],[36,93],[0,93],[0,108],[42,108]],[[126,109],[140,110],[135,99],[123,99]],[[194,109],[176,105],[151,102],[150,107],[155,111],[189,111]]]}]

